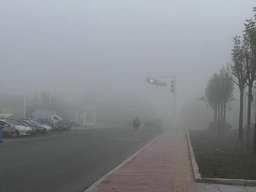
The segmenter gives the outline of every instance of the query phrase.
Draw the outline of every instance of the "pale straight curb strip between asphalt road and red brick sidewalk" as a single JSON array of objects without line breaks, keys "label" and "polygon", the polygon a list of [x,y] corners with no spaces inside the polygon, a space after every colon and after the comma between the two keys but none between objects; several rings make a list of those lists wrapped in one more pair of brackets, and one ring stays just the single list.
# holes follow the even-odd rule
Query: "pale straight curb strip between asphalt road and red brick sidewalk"
[{"label": "pale straight curb strip between asphalt road and red brick sidewalk", "polygon": [[[164,134],[165,132],[163,132],[162,134]],[[115,168],[113,168],[109,173],[105,174],[103,177],[101,177],[98,181],[96,181],[94,184],[92,184],[88,189],[86,189],[84,192],[90,192],[92,191],[94,188],[96,188],[102,181],[104,181],[108,176],[110,176],[112,173],[114,173],[115,171],[117,171],[119,168],[121,168],[124,164],[126,164],[128,161],[130,161],[133,157],[135,157],[138,153],[140,153],[143,149],[145,149],[148,145],[150,145],[151,143],[153,143],[154,141],[156,141],[156,139],[158,137],[160,137],[162,134],[158,135],[156,138],[154,138],[151,142],[149,142],[148,144],[146,144],[144,147],[142,147],[139,151],[137,151],[136,153],[134,153],[132,156],[130,156],[128,159],[126,159],[123,163],[117,165]]]}]

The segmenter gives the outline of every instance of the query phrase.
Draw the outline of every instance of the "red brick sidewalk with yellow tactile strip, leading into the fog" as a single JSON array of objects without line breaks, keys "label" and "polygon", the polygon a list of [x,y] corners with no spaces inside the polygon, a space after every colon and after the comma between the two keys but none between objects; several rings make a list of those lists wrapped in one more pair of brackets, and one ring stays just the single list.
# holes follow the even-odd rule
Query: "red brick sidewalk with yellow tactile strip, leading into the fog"
[{"label": "red brick sidewalk with yellow tactile strip, leading into the fog", "polygon": [[196,192],[185,131],[166,131],[93,192]]}]

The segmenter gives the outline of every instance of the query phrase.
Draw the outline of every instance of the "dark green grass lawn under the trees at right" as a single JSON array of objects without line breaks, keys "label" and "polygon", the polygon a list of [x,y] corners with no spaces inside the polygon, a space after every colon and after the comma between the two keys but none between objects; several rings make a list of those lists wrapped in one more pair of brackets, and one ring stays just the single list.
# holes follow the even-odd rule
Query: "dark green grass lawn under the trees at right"
[{"label": "dark green grass lawn under the trees at right", "polygon": [[189,131],[201,177],[256,180],[253,133],[251,130],[250,154],[244,154],[239,148],[238,130],[228,131],[225,137],[217,137],[210,130]]}]

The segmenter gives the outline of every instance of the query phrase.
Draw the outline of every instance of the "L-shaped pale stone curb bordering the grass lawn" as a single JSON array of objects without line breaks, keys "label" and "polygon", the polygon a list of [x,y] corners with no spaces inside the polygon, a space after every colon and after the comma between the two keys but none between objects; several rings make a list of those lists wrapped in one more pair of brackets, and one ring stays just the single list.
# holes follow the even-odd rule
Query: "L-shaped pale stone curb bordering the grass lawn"
[{"label": "L-shaped pale stone curb bordering the grass lawn", "polygon": [[199,173],[199,168],[196,162],[195,154],[193,151],[193,147],[191,145],[189,132],[187,130],[187,141],[189,146],[189,152],[191,157],[191,162],[193,166],[193,172],[195,177],[195,182],[202,182],[202,183],[214,183],[214,184],[227,184],[227,185],[238,185],[238,186],[256,186],[256,180],[246,180],[246,179],[219,179],[219,178],[201,178]]}]

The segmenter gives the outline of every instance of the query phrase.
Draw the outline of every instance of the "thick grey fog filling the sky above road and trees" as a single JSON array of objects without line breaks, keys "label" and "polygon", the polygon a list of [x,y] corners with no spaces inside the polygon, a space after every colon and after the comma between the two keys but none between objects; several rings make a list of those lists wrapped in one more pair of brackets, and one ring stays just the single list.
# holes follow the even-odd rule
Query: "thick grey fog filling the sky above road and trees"
[{"label": "thick grey fog filling the sky above road and trees", "polygon": [[65,102],[111,113],[113,123],[171,120],[170,79],[158,87],[145,78],[176,74],[177,120],[203,129],[213,112],[196,99],[230,61],[232,37],[242,34],[253,6],[253,0],[2,0],[1,94],[51,90]]}]

